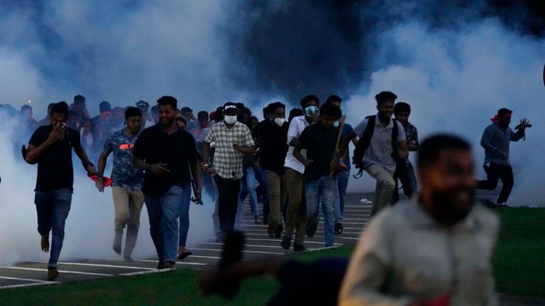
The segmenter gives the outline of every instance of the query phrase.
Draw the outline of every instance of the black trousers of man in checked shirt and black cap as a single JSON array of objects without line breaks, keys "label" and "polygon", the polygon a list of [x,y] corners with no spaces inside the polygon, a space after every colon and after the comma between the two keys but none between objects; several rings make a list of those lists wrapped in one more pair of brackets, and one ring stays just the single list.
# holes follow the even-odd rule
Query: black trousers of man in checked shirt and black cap
[{"label": "black trousers of man in checked shirt and black cap", "polygon": [[215,175],[214,181],[218,186],[219,229],[223,234],[227,234],[233,232],[235,227],[238,193],[241,192],[241,179],[224,179]]}]

